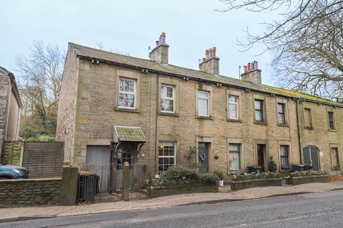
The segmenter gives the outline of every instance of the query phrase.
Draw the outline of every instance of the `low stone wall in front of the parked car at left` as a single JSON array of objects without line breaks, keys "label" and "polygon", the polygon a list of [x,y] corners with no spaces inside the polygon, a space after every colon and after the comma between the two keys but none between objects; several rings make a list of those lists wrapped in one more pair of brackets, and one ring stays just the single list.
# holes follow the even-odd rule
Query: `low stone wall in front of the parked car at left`
[{"label": "low stone wall in front of the parked car at left", "polygon": [[0,180],[0,207],[59,204],[61,178]]}]

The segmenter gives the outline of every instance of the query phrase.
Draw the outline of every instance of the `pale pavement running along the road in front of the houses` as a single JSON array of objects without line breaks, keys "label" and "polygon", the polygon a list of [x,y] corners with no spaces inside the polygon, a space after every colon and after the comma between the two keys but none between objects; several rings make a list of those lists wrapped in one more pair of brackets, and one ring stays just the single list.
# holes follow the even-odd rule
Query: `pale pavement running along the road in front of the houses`
[{"label": "pale pavement running along the road in front of the houses", "polygon": [[227,193],[195,193],[170,195],[152,199],[135,199],[129,202],[101,202],[75,206],[51,207],[12,207],[0,209],[0,222],[13,222],[26,219],[70,217],[84,214],[109,212],[132,212],[146,209],[171,208],[192,204],[213,204],[248,199],[262,199],[275,196],[301,195],[306,193],[343,190],[343,182],[309,183],[286,187],[255,187]]}]

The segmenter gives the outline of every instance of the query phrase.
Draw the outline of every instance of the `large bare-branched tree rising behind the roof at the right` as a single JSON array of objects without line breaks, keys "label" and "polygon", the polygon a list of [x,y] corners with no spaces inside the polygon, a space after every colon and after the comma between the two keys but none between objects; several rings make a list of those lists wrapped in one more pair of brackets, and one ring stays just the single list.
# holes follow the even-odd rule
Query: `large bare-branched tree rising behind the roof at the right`
[{"label": "large bare-branched tree rising behind the roof at the right", "polygon": [[281,11],[260,35],[247,30],[244,50],[262,43],[274,53],[280,86],[343,102],[343,1],[220,0],[219,11]]}]

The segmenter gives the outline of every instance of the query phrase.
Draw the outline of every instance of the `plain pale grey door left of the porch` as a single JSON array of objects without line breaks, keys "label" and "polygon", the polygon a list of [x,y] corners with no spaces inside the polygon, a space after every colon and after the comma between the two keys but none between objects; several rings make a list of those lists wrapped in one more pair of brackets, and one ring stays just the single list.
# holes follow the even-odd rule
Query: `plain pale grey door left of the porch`
[{"label": "plain pale grey door left of the porch", "polygon": [[99,178],[99,193],[109,189],[109,146],[88,145],[86,150],[86,171],[96,173]]}]

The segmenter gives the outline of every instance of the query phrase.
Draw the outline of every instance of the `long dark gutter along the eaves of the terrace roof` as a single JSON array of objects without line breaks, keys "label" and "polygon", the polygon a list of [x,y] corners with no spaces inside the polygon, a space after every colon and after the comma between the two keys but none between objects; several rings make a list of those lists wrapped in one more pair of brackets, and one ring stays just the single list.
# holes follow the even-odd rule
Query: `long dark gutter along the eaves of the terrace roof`
[{"label": "long dark gutter along the eaves of the terrace roof", "polygon": [[241,89],[246,90],[248,92],[250,90],[252,90],[252,91],[256,91],[256,92],[264,93],[264,94],[268,94],[268,95],[278,95],[278,96],[284,97],[284,98],[293,98],[294,100],[304,100],[304,101],[311,102],[311,103],[319,103],[319,104],[325,104],[325,105],[332,105],[332,106],[337,106],[337,107],[343,108],[343,105],[340,105],[340,104],[332,104],[332,103],[319,102],[319,101],[316,101],[316,100],[309,100],[307,98],[297,98],[297,97],[293,97],[293,96],[290,96],[290,95],[283,95],[283,94],[279,94],[279,93],[271,93],[271,92],[267,92],[267,91],[264,91],[264,90],[257,90],[257,89],[254,89],[254,88],[247,88],[247,87],[244,87],[244,86],[237,86],[237,85],[232,85],[232,84],[228,84],[228,83],[220,83],[220,82],[216,82],[216,81],[211,81],[211,80],[206,80],[206,79],[201,79],[201,78],[194,78],[194,77],[190,77],[190,76],[182,76],[182,75],[179,75],[179,74],[176,74],[176,73],[169,73],[169,72],[165,72],[165,71],[157,71],[157,70],[154,70],[154,69],[143,68],[141,66],[134,66],[134,65],[131,65],[131,64],[126,64],[126,63],[118,63],[118,62],[114,62],[114,61],[108,61],[108,60],[105,60],[105,59],[102,59],[102,58],[83,56],[83,55],[81,55],[79,53],[76,53],[76,58],[77,57],[78,58],[83,58],[83,59],[86,59],[86,60],[89,60],[89,61],[96,59],[98,61],[101,61],[103,63],[107,63],[109,65],[122,66],[122,67],[126,67],[126,68],[134,68],[136,70],[144,71],[146,73],[148,73],[147,70],[149,70],[151,73],[157,73],[157,74],[166,75],[166,76],[172,76],[172,77],[176,77],[176,78],[182,78],[182,79],[191,78],[194,81],[200,81],[200,82],[204,82],[204,83],[212,83],[212,84],[215,84],[215,85],[221,84],[222,86],[241,88]]}]

